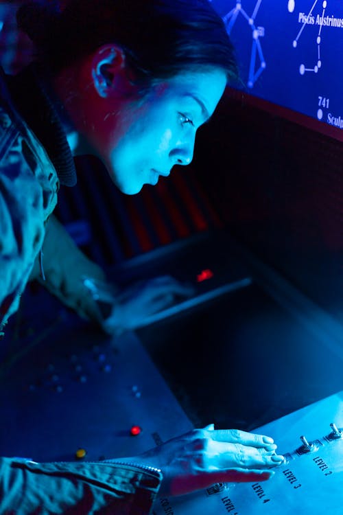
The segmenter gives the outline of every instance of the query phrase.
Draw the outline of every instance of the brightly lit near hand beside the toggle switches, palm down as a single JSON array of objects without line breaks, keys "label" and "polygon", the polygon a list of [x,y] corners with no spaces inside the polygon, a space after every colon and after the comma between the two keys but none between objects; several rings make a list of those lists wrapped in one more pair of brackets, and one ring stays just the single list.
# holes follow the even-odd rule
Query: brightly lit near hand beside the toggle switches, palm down
[{"label": "brightly lit near hand beside the toggle switches, palm down", "polygon": [[213,424],[195,429],[148,450],[130,461],[160,468],[159,494],[183,495],[213,483],[259,482],[270,479],[269,470],[283,462],[270,437],[244,431],[217,430]]}]

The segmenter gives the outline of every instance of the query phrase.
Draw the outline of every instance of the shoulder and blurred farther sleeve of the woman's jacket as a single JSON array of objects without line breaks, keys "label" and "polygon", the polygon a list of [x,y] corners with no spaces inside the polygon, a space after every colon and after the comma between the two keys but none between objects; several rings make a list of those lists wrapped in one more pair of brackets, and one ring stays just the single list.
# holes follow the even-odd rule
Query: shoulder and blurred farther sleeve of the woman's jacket
[{"label": "shoulder and blurred farther sleeve of the woman's jacket", "polygon": [[38,279],[80,316],[101,319],[82,276],[104,280],[104,272],[51,216],[58,189],[56,169],[16,112],[0,73],[0,332],[29,279]]}]

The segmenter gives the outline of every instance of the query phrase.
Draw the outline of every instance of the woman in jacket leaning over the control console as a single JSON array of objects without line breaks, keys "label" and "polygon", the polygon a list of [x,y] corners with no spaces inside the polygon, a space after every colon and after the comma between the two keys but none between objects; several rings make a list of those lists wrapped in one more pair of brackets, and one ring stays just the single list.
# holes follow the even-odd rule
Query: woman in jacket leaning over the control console
[{"label": "woman in jacket leaning over the control console", "polygon": [[[75,185],[73,156],[84,153],[126,194],[187,165],[196,130],[235,78],[233,49],[206,0],[69,0],[62,13],[49,5],[19,10],[37,60],[0,83],[0,328],[39,274],[106,330],[134,327],[161,294],[187,290],[160,278],[134,299],[116,299],[103,321],[104,275],[51,216],[59,184]],[[1,459],[0,512],[148,514],[157,492],[269,479],[283,459],[275,449],[269,437],[211,424],[120,463]]]}]

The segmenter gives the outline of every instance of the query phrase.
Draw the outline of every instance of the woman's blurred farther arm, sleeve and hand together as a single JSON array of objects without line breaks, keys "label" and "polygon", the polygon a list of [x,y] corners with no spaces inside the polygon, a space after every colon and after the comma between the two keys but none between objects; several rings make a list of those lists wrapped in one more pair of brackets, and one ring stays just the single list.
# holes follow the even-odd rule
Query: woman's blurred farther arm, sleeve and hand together
[{"label": "woman's blurred farther arm, sleeve and hand together", "polygon": [[[30,279],[37,279],[63,304],[81,317],[97,321],[109,334],[134,330],[155,312],[174,303],[177,297],[188,297],[193,288],[173,277],[155,277],[117,290],[106,282],[102,268],[78,249],[66,229],[51,216],[43,244],[43,280],[37,258]],[[99,302],[107,306],[105,314]]]}]

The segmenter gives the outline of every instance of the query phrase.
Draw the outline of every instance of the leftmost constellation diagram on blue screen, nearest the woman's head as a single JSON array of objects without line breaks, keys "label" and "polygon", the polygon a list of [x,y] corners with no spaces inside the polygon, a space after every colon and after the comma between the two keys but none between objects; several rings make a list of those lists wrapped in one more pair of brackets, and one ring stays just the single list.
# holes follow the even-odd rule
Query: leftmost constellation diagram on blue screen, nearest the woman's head
[{"label": "leftmost constellation diagram on blue screen, nearest the woman's head", "polygon": [[[230,35],[235,22],[238,16],[243,16],[248,23],[248,26],[252,32],[252,49],[250,54],[250,66],[249,66],[249,76],[248,76],[248,87],[253,88],[255,82],[263,72],[266,67],[266,62],[263,57],[262,45],[260,38],[264,36],[265,29],[264,27],[257,27],[255,25],[255,19],[257,17],[257,13],[259,12],[259,8],[261,6],[262,0],[257,0],[255,9],[252,12],[251,16],[247,14],[244,10],[243,1],[237,1],[235,7],[228,12],[225,16],[223,16],[223,21],[226,25],[226,30]],[[259,60],[259,61],[258,61]],[[259,62],[259,66],[257,67],[257,62]]]}]

